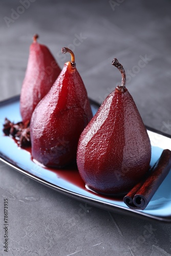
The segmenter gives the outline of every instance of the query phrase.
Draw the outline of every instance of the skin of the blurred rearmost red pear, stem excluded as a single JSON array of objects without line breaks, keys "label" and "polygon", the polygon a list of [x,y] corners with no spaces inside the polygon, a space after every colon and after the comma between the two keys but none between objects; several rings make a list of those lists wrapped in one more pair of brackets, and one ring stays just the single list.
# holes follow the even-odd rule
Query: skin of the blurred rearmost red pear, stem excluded
[{"label": "skin of the blurred rearmost red pear, stem excluded", "polygon": [[20,95],[20,113],[23,122],[30,121],[38,102],[49,92],[61,69],[49,49],[33,42]]}]

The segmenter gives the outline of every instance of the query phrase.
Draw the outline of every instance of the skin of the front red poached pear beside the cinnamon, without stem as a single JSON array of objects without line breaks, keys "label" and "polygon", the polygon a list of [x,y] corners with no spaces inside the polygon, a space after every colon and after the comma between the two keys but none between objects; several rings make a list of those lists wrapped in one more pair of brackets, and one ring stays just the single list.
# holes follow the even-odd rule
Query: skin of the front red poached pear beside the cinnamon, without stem
[{"label": "skin of the front red poached pear beside the cinnamon, without stem", "polygon": [[147,172],[151,143],[135,102],[117,89],[82,132],[77,166],[83,181],[104,194],[125,194]]}]

